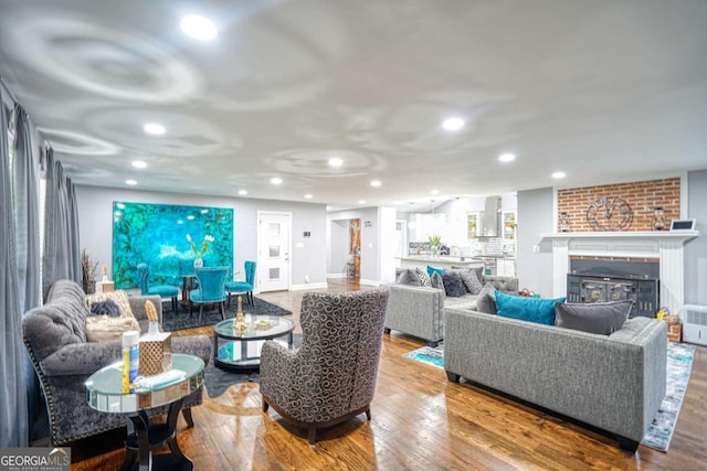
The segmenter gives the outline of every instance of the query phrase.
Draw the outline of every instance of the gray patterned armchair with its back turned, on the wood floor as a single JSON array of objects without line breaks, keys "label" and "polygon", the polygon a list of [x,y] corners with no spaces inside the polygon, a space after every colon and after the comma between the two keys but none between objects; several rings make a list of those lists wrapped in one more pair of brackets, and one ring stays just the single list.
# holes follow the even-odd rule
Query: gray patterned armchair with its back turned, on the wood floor
[{"label": "gray patterned armchair with its back turned, on the wood floor", "polygon": [[268,341],[261,354],[263,411],[309,431],[361,413],[370,420],[388,308],[387,289],[307,292],[302,300],[302,346]]}]

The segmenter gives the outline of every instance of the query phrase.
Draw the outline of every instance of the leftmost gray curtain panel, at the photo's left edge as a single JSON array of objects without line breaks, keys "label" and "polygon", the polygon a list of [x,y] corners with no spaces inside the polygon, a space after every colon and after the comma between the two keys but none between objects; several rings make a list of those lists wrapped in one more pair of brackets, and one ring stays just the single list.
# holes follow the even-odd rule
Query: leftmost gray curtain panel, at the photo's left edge
[{"label": "leftmost gray curtain panel, at the photo's left edge", "polygon": [[22,308],[18,282],[12,180],[8,156],[8,121],[0,84],[0,447],[27,447],[29,421]]}]

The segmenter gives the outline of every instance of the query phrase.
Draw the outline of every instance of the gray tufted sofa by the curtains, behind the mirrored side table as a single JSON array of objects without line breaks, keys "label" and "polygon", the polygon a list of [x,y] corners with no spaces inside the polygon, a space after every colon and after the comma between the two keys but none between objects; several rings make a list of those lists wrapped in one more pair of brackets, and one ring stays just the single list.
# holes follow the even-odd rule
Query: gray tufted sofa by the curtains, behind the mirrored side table
[{"label": "gray tufted sofa by the curtains, behind the mirrored side table", "polygon": [[[59,446],[126,425],[126,417],[98,413],[86,403],[86,379],[102,367],[120,360],[122,343],[87,342],[88,308],[82,288],[74,281],[56,281],[44,306],[28,311],[22,319],[22,333],[30,360],[40,378],[50,420],[50,440]],[[154,302],[159,320],[162,304],[159,296],[131,297],[130,309],[147,332],[145,301]],[[190,353],[209,362],[211,341],[205,335],[172,339],[172,351]],[[193,426],[189,407],[201,404],[200,388],[184,400],[182,413]],[[167,409],[152,409],[161,414]]]}]

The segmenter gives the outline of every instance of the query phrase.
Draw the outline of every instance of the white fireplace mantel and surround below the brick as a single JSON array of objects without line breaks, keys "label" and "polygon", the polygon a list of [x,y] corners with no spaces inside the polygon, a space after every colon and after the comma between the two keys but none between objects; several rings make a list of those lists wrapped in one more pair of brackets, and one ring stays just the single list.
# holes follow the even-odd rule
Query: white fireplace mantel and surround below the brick
[{"label": "white fireplace mantel and surround below the brick", "polygon": [[671,312],[679,312],[683,308],[684,247],[698,236],[697,231],[540,234],[542,240],[552,242],[553,297],[567,296],[570,256],[657,258],[661,266],[661,306],[666,306]]}]

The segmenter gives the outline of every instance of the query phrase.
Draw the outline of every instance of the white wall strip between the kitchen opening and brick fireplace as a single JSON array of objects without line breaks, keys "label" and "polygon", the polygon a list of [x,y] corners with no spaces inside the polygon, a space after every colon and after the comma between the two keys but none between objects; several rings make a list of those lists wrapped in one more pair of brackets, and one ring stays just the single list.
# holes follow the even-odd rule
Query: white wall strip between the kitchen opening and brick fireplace
[{"label": "white wall strip between the kitchen opening and brick fireplace", "polygon": [[[555,191],[518,192],[516,271],[518,288],[528,288],[544,298],[552,297],[552,245],[540,244],[540,233],[553,232]],[[540,245],[540,253],[532,247]]]}]

